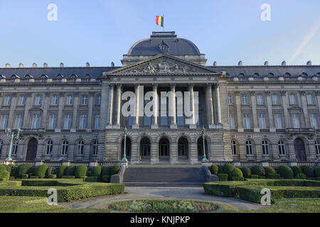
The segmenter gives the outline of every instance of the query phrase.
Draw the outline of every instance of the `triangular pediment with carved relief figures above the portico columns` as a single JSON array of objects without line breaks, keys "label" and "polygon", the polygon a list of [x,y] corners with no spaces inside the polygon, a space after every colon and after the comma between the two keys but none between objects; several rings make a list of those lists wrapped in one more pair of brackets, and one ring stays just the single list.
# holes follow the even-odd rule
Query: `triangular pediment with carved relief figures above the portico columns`
[{"label": "triangular pediment with carved relief figures above the portico columns", "polygon": [[134,65],[121,67],[107,74],[222,74],[220,70],[188,62],[171,55],[156,55]]}]

